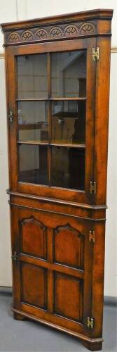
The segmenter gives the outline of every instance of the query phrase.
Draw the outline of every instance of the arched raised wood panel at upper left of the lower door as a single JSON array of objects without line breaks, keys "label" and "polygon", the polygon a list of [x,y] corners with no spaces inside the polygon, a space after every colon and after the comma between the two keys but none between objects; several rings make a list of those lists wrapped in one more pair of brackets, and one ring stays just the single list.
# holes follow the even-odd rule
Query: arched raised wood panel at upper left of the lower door
[{"label": "arched raised wood panel at upper left of the lower door", "polygon": [[46,259],[46,226],[31,216],[20,221],[20,233],[22,253]]}]

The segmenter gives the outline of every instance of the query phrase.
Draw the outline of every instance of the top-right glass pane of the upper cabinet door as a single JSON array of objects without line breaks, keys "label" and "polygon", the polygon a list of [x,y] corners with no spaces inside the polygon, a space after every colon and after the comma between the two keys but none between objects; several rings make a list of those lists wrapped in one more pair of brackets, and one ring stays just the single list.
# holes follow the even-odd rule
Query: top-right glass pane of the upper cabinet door
[{"label": "top-right glass pane of the upper cabinet door", "polygon": [[51,54],[52,96],[86,95],[86,51]]}]

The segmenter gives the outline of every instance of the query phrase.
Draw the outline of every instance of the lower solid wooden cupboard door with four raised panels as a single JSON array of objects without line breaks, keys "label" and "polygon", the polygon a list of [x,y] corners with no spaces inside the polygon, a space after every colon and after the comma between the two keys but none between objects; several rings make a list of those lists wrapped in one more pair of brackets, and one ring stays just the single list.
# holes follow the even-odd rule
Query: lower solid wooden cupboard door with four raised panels
[{"label": "lower solid wooden cupboard door with four raised panels", "polygon": [[92,243],[89,220],[13,207],[13,311],[88,334]]}]

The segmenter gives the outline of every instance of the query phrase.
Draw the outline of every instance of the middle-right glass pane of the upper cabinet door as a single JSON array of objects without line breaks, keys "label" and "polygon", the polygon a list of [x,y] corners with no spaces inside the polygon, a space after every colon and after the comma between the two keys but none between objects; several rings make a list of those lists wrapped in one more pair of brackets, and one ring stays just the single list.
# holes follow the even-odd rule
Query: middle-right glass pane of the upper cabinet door
[{"label": "middle-right glass pane of the upper cabinet door", "polygon": [[85,142],[85,101],[53,101],[52,142]]}]

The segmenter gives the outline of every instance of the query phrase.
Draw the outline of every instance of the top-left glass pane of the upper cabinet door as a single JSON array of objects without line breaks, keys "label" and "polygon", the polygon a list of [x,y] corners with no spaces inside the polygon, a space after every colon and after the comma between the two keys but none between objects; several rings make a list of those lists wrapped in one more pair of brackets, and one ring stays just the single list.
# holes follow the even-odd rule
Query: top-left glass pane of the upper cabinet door
[{"label": "top-left glass pane of the upper cabinet door", "polygon": [[47,98],[47,54],[18,56],[18,98]]}]

